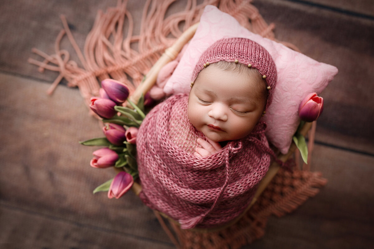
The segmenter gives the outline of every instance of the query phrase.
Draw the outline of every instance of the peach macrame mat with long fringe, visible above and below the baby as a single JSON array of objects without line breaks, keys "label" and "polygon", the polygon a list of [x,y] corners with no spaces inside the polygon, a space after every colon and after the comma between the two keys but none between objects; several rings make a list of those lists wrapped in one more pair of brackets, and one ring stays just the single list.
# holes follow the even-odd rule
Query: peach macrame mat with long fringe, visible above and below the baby
[{"label": "peach macrame mat with long fringe, visible above and below the baby", "polygon": [[[99,82],[106,78],[122,81],[128,85],[131,93],[134,92],[163,51],[183,31],[199,21],[207,4],[217,6],[221,11],[234,16],[250,31],[276,40],[272,31],[275,26],[264,21],[251,0],[203,0],[199,3],[187,0],[184,10],[167,16],[172,3],[174,0],[147,0],[139,34],[133,34],[134,19],[126,8],[127,1],[119,0],[116,7],[108,8],[105,13],[99,11],[91,32],[87,35],[83,52],[74,40],[66,18],[61,15],[63,28],[55,41],[55,53],[48,55],[34,48],[32,52],[39,59],[29,58],[28,62],[37,65],[40,72],[51,70],[59,73],[47,91],[48,94],[52,94],[56,86],[65,79],[69,87],[79,87],[89,106],[90,98],[99,94]],[[60,47],[65,35],[79,58],[78,62],[70,60],[68,50]],[[278,42],[298,51],[292,44]],[[309,157],[312,154],[314,131],[315,128],[312,128],[309,134]],[[295,161],[298,162],[297,159]],[[155,214],[179,248],[240,248],[263,236],[269,215],[282,216],[293,211],[317,194],[325,183],[321,174],[310,172],[307,165],[302,168],[297,166],[292,173],[281,169],[255,205],[238,222],[217,232],[183,230],[171,222],[173,234],[159,213]]]}]

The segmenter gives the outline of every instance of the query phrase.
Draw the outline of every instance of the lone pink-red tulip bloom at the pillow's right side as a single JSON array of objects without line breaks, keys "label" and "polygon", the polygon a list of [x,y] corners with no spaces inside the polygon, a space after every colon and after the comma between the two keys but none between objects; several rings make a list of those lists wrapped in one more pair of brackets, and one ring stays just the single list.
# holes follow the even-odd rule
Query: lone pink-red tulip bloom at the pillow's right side
[{"label": "lone pink-red tulip bloom at the pillow's right side", "polygon": [[306,122],[315,121],[324,109],[324,99],[318,97],[316,93],[311,93],[301,101],[299,106],[299,116]]}]

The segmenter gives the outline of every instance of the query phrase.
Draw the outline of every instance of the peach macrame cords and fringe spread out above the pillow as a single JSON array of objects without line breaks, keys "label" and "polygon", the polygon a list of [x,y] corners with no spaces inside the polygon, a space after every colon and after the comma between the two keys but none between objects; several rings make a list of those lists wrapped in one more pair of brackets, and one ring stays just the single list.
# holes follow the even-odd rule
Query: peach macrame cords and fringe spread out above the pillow
[{"label": "peach macrame cords and fringe spread out above the pillow", "polygon": [[[102,80],[113,78],[128,85],[130,94],[141,83],[151,66],[159,59],[164,50],[174,43],[183,31],[199,21],[206,5],[212,4],[234,16],[242,26],[263,37],[275,40],[274,25],[264,21],[258,10],[250,4],[251,0],[188,0],[186,8],[166,17],[166,13],[175,0],[148,0],[145,3],[140,34],[134,35],[134,20],[126,8],[126,0],[119,0],[116,7],[108,8],[105,13],[99,11],[89,34],[83,52],[74,40],[67,20],[61,15],[63,29],[55,41],[55,53],[46,53],[33,48],[31,51],[42,57],[42,61],[29,58],[28,62],[45,69],[59,72],[59,76],[47,90],[52,94],[62,79],[68,81],[69,87],[79,87],[80,93],[89,106],[90,98],[98,96]],[[183,24],[180,29],[180,24]],[[127,24],[125,26],[125,24]],[[124,34],[124,31],[127,33]],[[59,44],[67,36],[76,52],[80,65],[70,60],[67,50]],[[292,44],[286,46],[297,50]],[[135,50],[133,47],[137,47]]]}]

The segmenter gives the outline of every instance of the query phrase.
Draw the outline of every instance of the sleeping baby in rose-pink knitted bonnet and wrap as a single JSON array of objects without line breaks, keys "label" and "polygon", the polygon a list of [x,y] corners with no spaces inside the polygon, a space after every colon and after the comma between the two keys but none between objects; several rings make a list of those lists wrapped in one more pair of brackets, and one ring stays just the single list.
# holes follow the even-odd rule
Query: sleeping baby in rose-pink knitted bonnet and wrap
[{"label": "sleeping baby in rose-pink knitted bonnet and wrap", "polygon": [[259,122],[276,84],[272,57],[246,38],[224,38],[200,57],[191,91],[152,109],[137,137],[142,201],[182,228],[240,215],[270,165]]}]

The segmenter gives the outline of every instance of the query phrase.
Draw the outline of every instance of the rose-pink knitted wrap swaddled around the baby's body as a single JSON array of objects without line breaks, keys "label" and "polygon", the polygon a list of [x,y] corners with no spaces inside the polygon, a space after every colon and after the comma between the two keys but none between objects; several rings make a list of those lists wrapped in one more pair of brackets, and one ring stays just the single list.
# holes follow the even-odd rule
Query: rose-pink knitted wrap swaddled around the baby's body
[{"label": "rose-pink knitted wrap swaddled around the baby's body", "polygon": [[193,155],[204,138],[187,118],[188,96],[154,107],[137,136],[141,200],[182,228],[214,227],[242,214],[270,165],[266,124],[214,155]]}]

